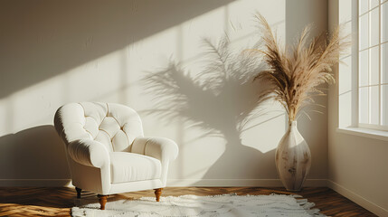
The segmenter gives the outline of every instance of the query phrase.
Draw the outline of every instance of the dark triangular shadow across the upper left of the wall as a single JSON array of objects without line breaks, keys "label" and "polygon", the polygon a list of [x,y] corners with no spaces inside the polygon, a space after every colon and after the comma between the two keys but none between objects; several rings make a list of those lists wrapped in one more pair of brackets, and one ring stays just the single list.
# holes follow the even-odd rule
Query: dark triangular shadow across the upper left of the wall
[{"label": "dark triangular shadow across the upper left of the wall", "polygon": [[0,99],[232,1],[1,1]]}]

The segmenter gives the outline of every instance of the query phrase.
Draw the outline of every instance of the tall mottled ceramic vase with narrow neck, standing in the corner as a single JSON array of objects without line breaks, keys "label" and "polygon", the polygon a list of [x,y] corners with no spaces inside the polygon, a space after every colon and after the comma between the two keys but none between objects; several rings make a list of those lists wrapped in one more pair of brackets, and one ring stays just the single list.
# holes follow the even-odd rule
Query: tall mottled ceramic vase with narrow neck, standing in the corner
[{"label": "tall mottled ceramic vase with narrow neck, standing in the corner", "polygon": [[311,153],[298,131],[297,121],[289,124],[289,129],[281,138],[275,161],[280,180],[286,189],[292,192],[300,191],[310,170]]}]

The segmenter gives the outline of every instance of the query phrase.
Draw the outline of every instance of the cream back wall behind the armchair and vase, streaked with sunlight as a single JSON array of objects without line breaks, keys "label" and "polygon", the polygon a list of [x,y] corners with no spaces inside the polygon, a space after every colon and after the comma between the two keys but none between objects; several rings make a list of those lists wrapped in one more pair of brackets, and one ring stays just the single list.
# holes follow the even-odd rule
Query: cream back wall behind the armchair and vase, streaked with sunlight
[{"label": "cream back wall behind the armchair and vase, streaked with sunlight", "polygon": [[[315,22],[317,31],[326,29],[326,1],[0,4],[1,185],[61,185],[69,180],[52,118],[72,101],[126,104],[139,112],[147,136],[174,139],[180,155],[170,167],[170,185],[280,185],[274,150],[286,130],[284,113],[270,105],[268,114],[245,130],[236,129],[236,119],[251,109],[255,86],[233,77],[214,93],[203,89],[206,80],[194,82],[204,64],[201,39],[216,42],[227,32],[233,47],[251,44],[257,39],[253,14],[260,12],[289,42],[304,24]],[[157,90],[147,90],[144,79],[166,68],[169,60],[185,66],[174,77],[181,85],[178,93],[185,95],[180,104],[185,110],[163,118],[154,99]],[[311,117],[300,118],[298,126],[313,156],[308,184],[322,185],[326,115]]]}]

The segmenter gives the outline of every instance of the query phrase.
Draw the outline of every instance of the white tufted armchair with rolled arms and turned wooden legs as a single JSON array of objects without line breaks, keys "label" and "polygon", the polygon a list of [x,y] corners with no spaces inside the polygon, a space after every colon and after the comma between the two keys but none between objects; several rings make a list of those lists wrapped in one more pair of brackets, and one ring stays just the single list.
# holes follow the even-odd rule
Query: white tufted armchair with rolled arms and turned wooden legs
[{"label": "white tufted armchair with rolled arms and turned wooden legs", "polygon": [[54,125],[78,198],[82,189],[98,193],[103,210],[109,194],[155,189],[159,201],[178,146],[168,138],[144,137],[135,110],[115,103],[71,103],[57,110]]}]

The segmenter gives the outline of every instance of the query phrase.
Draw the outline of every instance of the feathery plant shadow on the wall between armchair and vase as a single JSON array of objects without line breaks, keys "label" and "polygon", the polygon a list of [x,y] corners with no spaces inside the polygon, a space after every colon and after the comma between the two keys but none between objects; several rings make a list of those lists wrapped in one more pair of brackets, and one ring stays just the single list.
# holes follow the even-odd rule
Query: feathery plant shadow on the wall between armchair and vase
[{"label": "feathery plant shadow on the wall between armchair and vase", "polygon": [[[260,106],[263,100],[259,100],[259,96],[267,90],[262,83],[253,82],[253,77],[266,66],[258,55],[233,51],[227,36],[217,44],[207,39],[203,44],[205,66],[195,76],[174,61],[170,61],[166,69],[147,75],[144,79],[147,93],[155,97],[157,109],[148,110],[146,114],[156,115],[166,123],[183,120],[188,126],[204,132],[199,137],[225,139],[222,156],[203,179],[258,178],[260,166],[274,162],[274,152],[263,154],[258,149],[244,146],[241,133],[248,126],[252,127],[248,124],[251,120],[264,114]],[[257,137],[257,143],[260,143],[260,137]],[[275,165],[272,171],[275,171]]]}]

